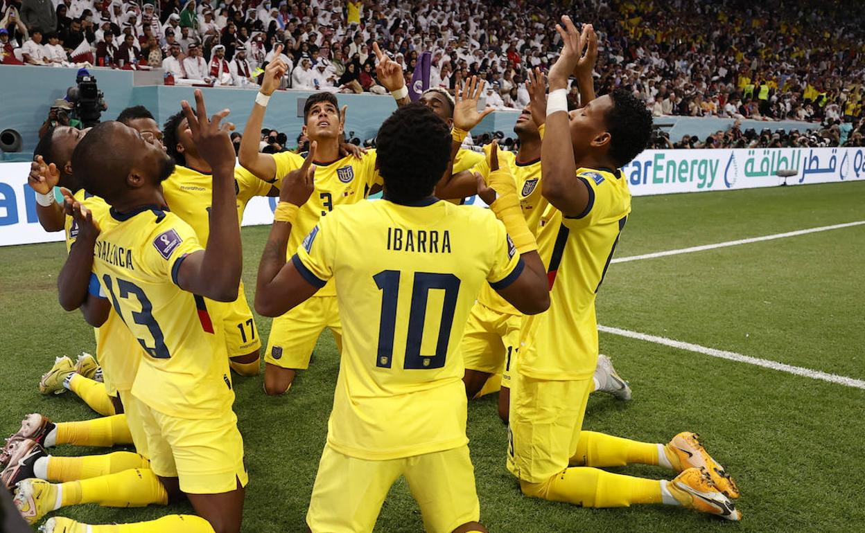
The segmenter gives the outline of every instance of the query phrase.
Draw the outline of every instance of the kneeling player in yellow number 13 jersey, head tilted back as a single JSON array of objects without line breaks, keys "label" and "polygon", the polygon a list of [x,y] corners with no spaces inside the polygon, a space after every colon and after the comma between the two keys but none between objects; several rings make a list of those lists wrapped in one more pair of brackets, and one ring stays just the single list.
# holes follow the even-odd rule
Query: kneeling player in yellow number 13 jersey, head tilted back
[{"label": "kneeling player in yellow number 13 jersey, head tilted back", "polygon": [[32,523],[67,504],[164,504],[186,495],[199,517],[111,526],[54,517],[45,531],[240,530],[247,484],[243,444],[231,409],[234,390],[221,322],[210,320],[204,301],[234,301],[240,285],[234,149],[228,136],[233,126],[220,124],[227,110],[208,120],[200,91],[195,101],[197,117],[186,102],[183,110],[214,181],[206,248],[188,224],[164,210],[160,184],[174,171],[174,162],[136,130],[117,122],[99,124],[73,156],[86,190],[106,200],[111,212],[97,225],[86,206],[72,203],[80,232],[61,270],[66,280],[61,301],[80,301],[93,325],[106,320],[113,306],[142,346],[146,355],[132,394],[145,405],[151,470],[61,485],[26,479],[18,484],[15,502]]}]

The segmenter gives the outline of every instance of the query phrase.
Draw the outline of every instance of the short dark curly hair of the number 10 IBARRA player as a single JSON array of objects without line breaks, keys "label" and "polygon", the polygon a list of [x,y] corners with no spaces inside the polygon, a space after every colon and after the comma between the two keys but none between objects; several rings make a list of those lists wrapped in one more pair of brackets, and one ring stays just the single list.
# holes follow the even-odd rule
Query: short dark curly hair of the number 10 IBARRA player
[{"label": "short dark curly hair of the number 10 IBARRA player", "polygon": [[451,155],[451,131],[421,102],[397,108],[378,131],[377,163],[388,200],[411,203],[432,195]]}]

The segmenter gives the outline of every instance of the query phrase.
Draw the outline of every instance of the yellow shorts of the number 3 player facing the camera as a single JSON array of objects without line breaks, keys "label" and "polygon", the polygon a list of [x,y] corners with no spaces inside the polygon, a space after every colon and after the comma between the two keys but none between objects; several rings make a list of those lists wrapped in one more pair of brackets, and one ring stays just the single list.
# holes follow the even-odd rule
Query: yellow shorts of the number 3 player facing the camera
[{"label": "yellow shorts of the number 3 player facing the camera", "polygon": [[343,327],[336,296],[313,296],[273,319],[265,361],[282,368],[309,368],[312,350],[325,327],[330,328],[336,347],[342,351]]}]

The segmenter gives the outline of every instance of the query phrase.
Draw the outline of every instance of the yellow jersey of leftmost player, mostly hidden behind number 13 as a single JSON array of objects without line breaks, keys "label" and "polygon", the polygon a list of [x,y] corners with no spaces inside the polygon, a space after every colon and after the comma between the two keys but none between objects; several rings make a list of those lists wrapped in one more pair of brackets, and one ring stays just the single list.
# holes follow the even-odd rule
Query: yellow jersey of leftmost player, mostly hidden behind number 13
[{"label": "yellow jersey of leftmost player, mostly hidden behind number 13", "polygon": [[[110,206],[105,200],[87,193],[80,189],[74,194],[75,200],[93,213],[93,220],[101,225],[108,216]],[[78,238],[78,224],[72,217],[66,217],[66,250],[69,251]],[[99,281],[91,275],[91,292],[98,294]],[[113,394],[117,390],[130,390],[132,382],[135,381],[135,373],[138,371],[138,362],[141,360],[141,348],[138,340],[132,337],[120,319],[117,312],[112,308],[108,312],[108,319],[100,327],[94,327],[96,335],[96,359],[102,365],[102,376],[106,384],[106,390]]]}]

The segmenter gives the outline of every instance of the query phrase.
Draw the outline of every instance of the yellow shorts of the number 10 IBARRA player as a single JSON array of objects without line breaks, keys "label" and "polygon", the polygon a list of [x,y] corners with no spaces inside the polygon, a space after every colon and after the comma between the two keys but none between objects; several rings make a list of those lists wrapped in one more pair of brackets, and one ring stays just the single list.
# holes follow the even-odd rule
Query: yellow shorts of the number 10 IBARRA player
[{"label": "yellow shorts of the number 10 IBARRA player", "polygon": [[406,477],[428,533],[480,519],[469,447],[402,459],[365,460],[324,446],[306,523],[313,533],[372,531],[394,481]]}]

